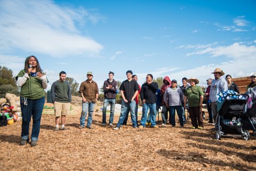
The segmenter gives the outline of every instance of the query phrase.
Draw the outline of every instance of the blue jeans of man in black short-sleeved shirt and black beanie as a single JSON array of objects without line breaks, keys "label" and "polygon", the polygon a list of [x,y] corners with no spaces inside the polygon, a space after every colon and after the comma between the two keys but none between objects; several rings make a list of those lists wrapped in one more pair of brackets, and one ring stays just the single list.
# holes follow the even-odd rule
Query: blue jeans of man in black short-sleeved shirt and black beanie
[{"label": "blue jeans of man in black short-sleeved shirt and black beanie", "polygon": [[117,127],[121,127],[124,122],[124,118],[126,116],[126,112],[128,109],[131,111],[131,118],[132,118],[132,126],[137,127],[137,120],[135,116],[135,108],[136,108],[136,102],[133,100],[132,102],[125,103],[124,100],[122,100],[122,107],[121,107],[121,114],[117,123]]}]

